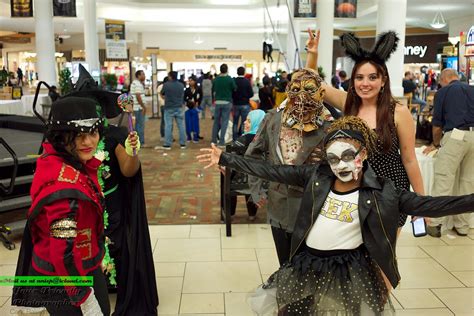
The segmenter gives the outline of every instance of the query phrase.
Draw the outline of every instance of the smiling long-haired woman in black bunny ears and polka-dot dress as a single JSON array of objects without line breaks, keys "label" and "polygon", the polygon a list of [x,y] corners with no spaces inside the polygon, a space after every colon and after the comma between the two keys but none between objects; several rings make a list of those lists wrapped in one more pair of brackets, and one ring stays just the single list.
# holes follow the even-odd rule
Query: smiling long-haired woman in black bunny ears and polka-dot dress
[{"label": "smiling long-haired woman in black bunny ears and polka-dot dress", "polygon": [[[307,42],[308,68],[315,69],[319,34],[309,32]],[[386,61],[396,50],[399,38],[395,32],[381,34],[372,51],[361,47],[351,33],[341,36],[346,54],[355,61],[347,92],[325,85],[324,101],[367,122],[378,135],[377,150],[369,163],[378,176],[392,180],[397,188],[413,190],[423,195],[423,179],[415,155],[413,118],[406,106],[397,103],[390,90],[390,76]],[[407,215],[401,213],[399,230]]]}]

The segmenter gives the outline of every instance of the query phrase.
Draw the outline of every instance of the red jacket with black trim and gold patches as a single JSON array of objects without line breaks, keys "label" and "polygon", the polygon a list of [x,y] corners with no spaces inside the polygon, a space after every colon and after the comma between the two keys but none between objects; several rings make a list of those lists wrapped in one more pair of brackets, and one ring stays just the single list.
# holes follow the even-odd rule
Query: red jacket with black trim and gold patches
[{"label": "red jacket with black trim and gold patches", "polygon": [[[48,276],[86,276],[104,256],[103,196],[97,182],[100,161],[78,171],[51,144],[43,144],[31,186],[28,226],[33,243],[31,265]],[[81,305],[88,287],[67,287],[71,303]]]}]

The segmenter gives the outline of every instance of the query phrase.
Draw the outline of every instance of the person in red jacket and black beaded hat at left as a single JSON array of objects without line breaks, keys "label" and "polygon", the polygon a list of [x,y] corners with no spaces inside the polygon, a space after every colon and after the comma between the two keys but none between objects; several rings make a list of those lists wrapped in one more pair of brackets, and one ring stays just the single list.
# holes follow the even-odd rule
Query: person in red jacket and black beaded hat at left
[{"label": "person in red jacket and black beaded hat at left", "polygon": [[43,154],[31,186],[31,208],[17,276],[92,276],[93,286],[16,286],[12,305],[44,306],[51,315],[109,315],[104,257],[104,198],[94,157],[103,121],[91,99],[53,103]]}]

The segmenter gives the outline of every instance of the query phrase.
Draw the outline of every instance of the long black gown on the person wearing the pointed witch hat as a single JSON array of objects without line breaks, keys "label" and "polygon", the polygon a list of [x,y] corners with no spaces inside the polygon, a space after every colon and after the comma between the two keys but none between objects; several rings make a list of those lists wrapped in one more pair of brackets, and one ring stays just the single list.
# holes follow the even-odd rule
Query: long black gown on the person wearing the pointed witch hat
[{"label": "long black gown on the person wearing the pointed witch hat", "polygon": [[125,147],[128,131],[109,125],[105,133],[108,172],[102,174],[108,211],[106,236],[110,256],[117,271],[117,302],[114,316],[157,315],[156,286],[141,168],[131,178],[124,177],[115,148]]}]

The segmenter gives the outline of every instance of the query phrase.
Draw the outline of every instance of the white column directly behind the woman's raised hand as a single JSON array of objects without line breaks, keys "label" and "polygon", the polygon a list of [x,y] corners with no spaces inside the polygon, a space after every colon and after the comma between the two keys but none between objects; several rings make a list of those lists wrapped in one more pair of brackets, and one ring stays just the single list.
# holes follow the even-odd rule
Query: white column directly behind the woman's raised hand
[{"label": "white column directly behind the woman's raised hand", "polygon": [[316,7],[317,24],[321,31],[318,66],[323,67],[325,81],[331,82],[332,52],[334,43],[334,0],[320,0]]}]

